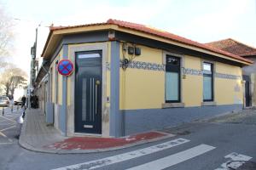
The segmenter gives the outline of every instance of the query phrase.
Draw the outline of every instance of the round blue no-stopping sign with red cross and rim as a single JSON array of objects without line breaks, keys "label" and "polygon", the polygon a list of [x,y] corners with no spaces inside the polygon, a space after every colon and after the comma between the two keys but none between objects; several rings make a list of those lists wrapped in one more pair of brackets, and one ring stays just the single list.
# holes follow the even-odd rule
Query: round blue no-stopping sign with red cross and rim
[{"label": "round blue no-stopping sign with red cross and rim", "polygon": [[69,59],[61,59],[57,65],[57,69],[62,76],[68,77],[73,72],[73,63]]}]

